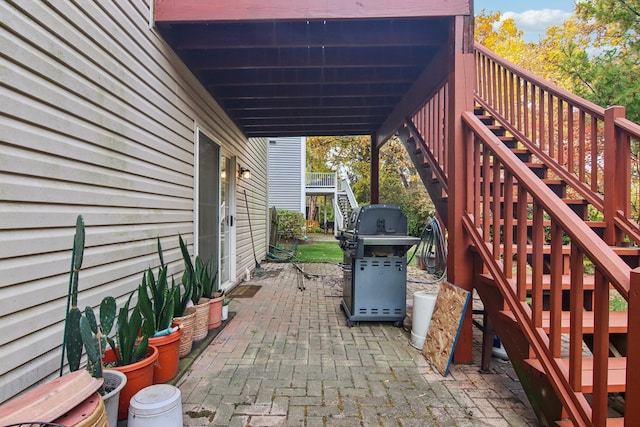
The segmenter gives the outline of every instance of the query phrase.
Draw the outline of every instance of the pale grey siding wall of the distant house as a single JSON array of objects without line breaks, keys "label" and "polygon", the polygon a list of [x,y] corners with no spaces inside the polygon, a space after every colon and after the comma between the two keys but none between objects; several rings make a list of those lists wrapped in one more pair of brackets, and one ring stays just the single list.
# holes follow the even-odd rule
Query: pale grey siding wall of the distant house
[{"label": "pale grey siding wall of the distant house", "polygon": [[305,212],[304,137],[269,138],[269,206]]}]

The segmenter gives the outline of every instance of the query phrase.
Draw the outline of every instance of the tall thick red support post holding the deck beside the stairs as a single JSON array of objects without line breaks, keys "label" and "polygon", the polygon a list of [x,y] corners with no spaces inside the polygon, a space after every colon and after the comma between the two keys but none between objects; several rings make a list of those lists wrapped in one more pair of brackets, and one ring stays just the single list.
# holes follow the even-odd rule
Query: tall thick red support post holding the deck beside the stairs
[{"label": "tall thick red support post holding the deck beside the stairs", "polygon": [[[475,57],[473,51],[473,17],[456,16],[449,34],[451,58],[449,61],[448,94],[448,151],[449,151],[449,205],[448,205],[448,260],[447,278],[468,291],[473,291],[473,256],[471,242],[462,225],[467,211],[467,182],[472,171],[468,156],[473,151],[465,144],[462,113],[473,111],[475,86]],[[462,322],[454,362],[473,362],[472,311],[467,310]]]}]

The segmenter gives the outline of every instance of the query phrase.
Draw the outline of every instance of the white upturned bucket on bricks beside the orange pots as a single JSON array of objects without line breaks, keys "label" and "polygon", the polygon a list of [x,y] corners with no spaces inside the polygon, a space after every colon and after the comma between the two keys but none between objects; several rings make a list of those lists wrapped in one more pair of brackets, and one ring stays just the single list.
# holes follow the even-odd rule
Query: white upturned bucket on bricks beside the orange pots
[{"label": "white upturned bucket on bricks beside the orange pots", "polygon": [[180,390],[169,384],[145,387],[131,398],[128,427],[182,427]]}]

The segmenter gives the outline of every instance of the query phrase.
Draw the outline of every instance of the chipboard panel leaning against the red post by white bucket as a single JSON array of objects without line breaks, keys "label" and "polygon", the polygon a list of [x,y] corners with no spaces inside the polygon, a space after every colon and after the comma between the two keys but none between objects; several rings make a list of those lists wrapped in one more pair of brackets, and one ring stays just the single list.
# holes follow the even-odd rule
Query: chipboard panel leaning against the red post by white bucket
[{"label": "chipboard panel leaning against the red post by white bucket", "polygon": [[470,300],[469,291],[447,282],[440,284],[422,354],[443,376],[449,373],[460,325]]}]

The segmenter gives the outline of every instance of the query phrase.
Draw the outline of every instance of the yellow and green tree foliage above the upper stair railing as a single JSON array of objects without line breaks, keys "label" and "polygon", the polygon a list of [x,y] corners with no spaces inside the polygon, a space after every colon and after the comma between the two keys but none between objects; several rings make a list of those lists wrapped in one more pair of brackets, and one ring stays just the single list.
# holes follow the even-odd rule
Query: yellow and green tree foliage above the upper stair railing
[{"label": "yellow and green tree foliage above the upper stair railing", "polygon": [[640,121],[640,0],[589,0],[539,43],[499,12],[475,20],[476,40],[536,75],[598,105],[624,105]]}]

